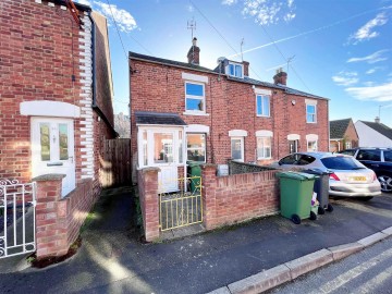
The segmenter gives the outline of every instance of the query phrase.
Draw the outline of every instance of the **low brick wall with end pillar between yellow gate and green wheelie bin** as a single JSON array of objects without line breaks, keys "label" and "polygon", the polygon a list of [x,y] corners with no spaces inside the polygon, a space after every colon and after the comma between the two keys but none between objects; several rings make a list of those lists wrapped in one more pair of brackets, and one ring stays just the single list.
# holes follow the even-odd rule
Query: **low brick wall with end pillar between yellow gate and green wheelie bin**
[{"label": "low brick wall with end pillar between yellow gate and green wheelie bin", "polygon": [[217,167],[201,167],[204,223],[207,230],[279,211],[277,171],[217,176]]}]

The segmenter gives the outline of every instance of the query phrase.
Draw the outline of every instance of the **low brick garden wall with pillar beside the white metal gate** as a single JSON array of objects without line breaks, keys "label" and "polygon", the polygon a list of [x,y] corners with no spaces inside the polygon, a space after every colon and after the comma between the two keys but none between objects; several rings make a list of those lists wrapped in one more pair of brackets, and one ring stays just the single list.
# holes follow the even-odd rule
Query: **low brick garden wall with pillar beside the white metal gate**
[{"label": "low brick garden wall with pillar beside the white metal gate", "polygon": [[61,198],[63,177],[63,174],[48,174],[33,179],[37,184],[38,259],[68,253],[97,198],[93,193],[91,180],[84,180],[66,197]]}]

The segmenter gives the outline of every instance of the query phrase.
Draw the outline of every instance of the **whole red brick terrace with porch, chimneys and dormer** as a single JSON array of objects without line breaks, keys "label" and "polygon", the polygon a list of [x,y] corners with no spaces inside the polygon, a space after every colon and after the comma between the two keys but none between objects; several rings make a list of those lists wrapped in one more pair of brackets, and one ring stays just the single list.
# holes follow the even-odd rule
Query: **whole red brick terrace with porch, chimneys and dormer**
[{"label": "whole red brick terrace with porch, chimneys and dormer", "polygon": [[328,99],[287,87],[283,71],[274,83],[249,78],[246,61],[200,66],[199,52],[196,39],[188,63],[130,52],[137,168],[159,167],[164,182],[182,176],[187,160],[265,164],[294,151],[328,150]]}]

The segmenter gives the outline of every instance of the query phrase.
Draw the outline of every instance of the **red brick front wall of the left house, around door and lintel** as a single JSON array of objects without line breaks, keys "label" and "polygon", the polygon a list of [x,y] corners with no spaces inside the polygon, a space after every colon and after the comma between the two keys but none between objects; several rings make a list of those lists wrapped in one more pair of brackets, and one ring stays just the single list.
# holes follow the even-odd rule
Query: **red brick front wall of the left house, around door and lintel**
[{"label": "red brick front wall of the left house, around door and lintel", "polygon": [[[0,1],[0,177],[30,180],[30,121],[20,103],[56,100],[81,106],[81,29],[47,1]],[[7,40],[7,41],[5,41]],[[76,81],[72,82],[72,75]],[[75,146],[81,146],[81,119]],[[81,179],[76,158],[77,179]]]}]

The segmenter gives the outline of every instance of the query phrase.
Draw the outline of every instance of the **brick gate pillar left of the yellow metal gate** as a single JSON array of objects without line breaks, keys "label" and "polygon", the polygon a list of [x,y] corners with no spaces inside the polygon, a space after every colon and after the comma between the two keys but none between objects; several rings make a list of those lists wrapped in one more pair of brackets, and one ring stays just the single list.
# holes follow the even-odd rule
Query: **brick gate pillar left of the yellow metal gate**
[{"label": "brick gate pillar left of the yellow metal gate", "polygon": [[159,168],[147,168],[138,171],[140,208],[147,242],[159,238],[158,172]]}]

